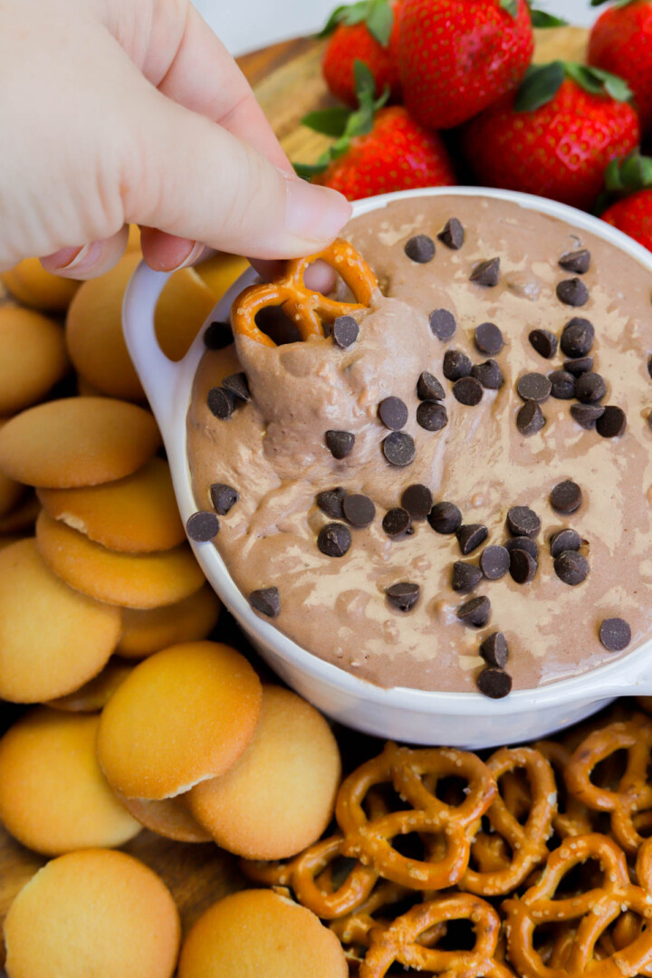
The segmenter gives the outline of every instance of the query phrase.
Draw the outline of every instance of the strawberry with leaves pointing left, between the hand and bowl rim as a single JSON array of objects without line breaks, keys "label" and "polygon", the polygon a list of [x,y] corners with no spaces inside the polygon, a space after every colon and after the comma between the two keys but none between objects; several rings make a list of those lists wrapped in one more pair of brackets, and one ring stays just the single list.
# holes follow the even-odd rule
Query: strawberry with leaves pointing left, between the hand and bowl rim
[{"label": "strawberry with leaves pointing left, between the hand and bowl rim", "polygon": [[374,99],[373,77],[356,62],[360,107],[311,112],[304,124],[335,136],[330,150],[314,165],[295,163],[297,173],[341,191],[349,200],[413,187],[450,187],[456,175],[436,132],[415,122],[402,106],[382,108],[387,92]]}]

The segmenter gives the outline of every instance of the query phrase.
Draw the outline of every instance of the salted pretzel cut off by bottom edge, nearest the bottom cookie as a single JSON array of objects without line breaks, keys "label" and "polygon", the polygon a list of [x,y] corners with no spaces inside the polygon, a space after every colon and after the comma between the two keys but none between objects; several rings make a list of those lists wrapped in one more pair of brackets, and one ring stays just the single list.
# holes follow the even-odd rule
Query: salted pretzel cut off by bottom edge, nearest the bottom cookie
[{"label": "salted pretzel cut off by bottom edge, nearest the bottom cookie", "polygon": [[[420,943],[421,935],[453,920],[472,922],[472,951],[443,951]],[[467,893],[440,897],[413,907],[387,928],[371,930],[360,978],[384,978],[395,962],[450,978],[513,978],[509,968],[497,959],[499,937],[500,917],[484,900]]]}]

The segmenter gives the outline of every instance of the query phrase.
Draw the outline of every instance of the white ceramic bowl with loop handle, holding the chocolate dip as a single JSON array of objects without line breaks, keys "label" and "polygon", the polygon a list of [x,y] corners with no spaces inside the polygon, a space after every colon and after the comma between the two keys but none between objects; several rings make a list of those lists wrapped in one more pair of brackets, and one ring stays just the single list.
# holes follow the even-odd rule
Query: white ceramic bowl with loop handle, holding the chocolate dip
[{"label": "white ceramic bowl with loop handle, holding the chocolate dip", "polygon": [[[652,254],[620,231],[573,207],[526,194],[474,187],[432,188],[362,200],[355,205],[355,215],[384,207],[392,200],[440,195],[512,200],[590,231],[652,272]],[[186,416],[205,346],[201,330],[180,363],[172,363],[161,353],[153,330],[153,311],[167,278],[141,264],[125,295],[124,331],[163,435],[179,508],[186,520],[197,508],[186,453]],[[233,300],[254,278],[254,272],[247,271],[217,304],[207,323],[227,320]],[[500,700],[475,692],[380,689],[323,662],[259,618],[213,545],[191,543],[206,577],[269,665],[329,717],[366,733],[410,743],[490,747],[553,733],[595,712],[615,696],[652,693],[652,642],[577,678],[518,690]]]}]

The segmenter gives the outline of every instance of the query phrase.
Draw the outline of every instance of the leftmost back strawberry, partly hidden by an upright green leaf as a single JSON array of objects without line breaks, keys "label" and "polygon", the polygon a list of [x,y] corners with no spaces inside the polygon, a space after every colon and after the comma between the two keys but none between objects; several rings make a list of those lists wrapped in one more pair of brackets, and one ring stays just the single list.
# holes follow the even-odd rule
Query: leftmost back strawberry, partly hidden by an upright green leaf
[{"label": "leftmost back strawberry, partly hidden by an upright green leaf", "polygon": [[376,91],[389,88],[392,102],[401,99],[401,81],[396,60],[399,0],[362,0],[338,7],[319,35],[330,36],[322,71],[331,95],[357,106],[354,65],[365,62],[375,80]]}]

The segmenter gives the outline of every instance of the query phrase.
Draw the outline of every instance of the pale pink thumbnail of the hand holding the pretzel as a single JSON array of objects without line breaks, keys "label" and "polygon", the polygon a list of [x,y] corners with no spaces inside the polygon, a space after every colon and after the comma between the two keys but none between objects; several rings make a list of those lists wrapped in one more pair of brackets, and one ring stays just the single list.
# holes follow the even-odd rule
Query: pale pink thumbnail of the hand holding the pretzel
[{"label": "pale pink thumbnail of the hand holding the pretzel", "polygon": [[305,241],[331,242],[351,217],[351,204],[337,191],[285,176],[285,230]]}]

